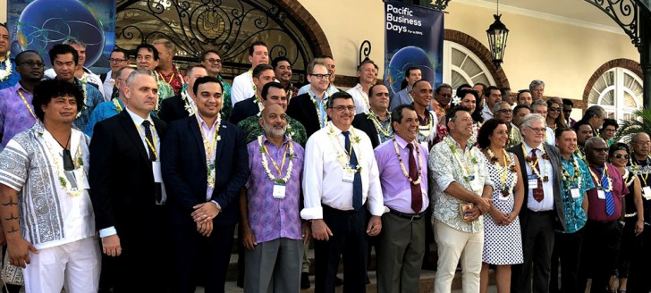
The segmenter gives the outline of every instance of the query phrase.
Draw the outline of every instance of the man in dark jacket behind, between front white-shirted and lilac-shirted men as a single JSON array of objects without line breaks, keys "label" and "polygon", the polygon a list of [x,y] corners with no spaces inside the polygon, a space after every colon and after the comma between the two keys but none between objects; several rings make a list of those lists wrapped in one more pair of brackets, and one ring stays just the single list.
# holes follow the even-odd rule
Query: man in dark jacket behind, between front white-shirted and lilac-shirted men
[{"label": "man in dark jacket behind, between front white-shirted and lilac-shirted men", "polygon": [[389,108],[389,90],[384,84],[376,84],[368,89],[368,113],[357,113],[352,126],[364,131],[371,138],[373,148],[391,139],[391,113]]}]

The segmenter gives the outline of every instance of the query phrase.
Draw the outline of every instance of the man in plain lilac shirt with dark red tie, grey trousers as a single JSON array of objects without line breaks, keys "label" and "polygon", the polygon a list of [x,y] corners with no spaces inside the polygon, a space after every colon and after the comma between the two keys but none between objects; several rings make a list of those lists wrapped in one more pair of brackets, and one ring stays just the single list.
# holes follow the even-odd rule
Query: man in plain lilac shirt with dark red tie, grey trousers
[{"label": "man in plain lilac shirt with dark red tie, grey trousers", "polygon": [[418,144],[418,114],[413,105],[391,113],[393,139],[376,147],[377,169],[385,205],[384,229],[377,243],[377,292],[412,292],[418,288],[425,254],[427,144]]}]

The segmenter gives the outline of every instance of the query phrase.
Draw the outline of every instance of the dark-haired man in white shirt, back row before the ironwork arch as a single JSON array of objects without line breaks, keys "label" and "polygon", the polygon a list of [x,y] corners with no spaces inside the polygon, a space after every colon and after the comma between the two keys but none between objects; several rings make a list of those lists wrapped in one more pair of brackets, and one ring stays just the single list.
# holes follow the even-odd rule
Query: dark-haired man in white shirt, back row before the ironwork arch
[{"label": "dark-haired man in white shirt, back row before the ironwork arch", "polygon": [[269,63],[269,51],[266,50],[266,43],[255,41],[249,46],[249,62],[251,69],[232,80],[231,103],[234,106],[237,102],[247,99],[256,94],[256,86],[253,84],[253,69],[258,64]]}]

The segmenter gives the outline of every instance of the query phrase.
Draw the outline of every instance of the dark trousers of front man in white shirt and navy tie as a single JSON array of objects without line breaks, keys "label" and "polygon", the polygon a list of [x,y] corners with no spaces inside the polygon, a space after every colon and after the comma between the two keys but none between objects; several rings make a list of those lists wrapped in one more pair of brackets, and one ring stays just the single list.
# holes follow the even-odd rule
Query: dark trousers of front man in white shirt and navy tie
[{"label": "dark trousers of front man in white shirt and navy tie", "polygon": [[343,292],[366,292],[368,210],[339,211],[323,205],[323,220],[333,232],[328,241],[314,240],[315,292],[334,293],[343,257]]}]

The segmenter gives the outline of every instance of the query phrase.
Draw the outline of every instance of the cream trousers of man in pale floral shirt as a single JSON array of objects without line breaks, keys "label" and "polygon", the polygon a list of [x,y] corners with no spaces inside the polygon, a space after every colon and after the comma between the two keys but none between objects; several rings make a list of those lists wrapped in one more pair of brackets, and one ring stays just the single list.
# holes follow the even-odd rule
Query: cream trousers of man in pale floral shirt
[{"label": "cream trousers of man in pale floral shirt", "polygon": [[463,269],[463,292],[478,293],[484,231],[467,233],[435,220],[434,239],[438,247],[438,264],[434,279],[435,293],[449,293],[452,290],[452,279],[460,259],[461,269]]}]

